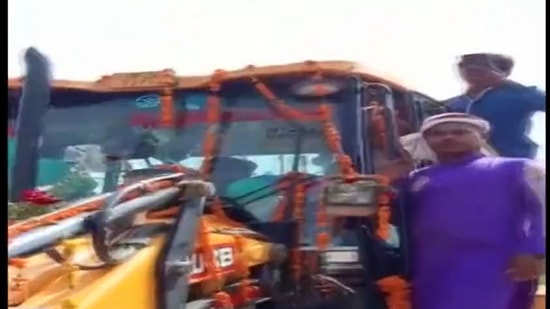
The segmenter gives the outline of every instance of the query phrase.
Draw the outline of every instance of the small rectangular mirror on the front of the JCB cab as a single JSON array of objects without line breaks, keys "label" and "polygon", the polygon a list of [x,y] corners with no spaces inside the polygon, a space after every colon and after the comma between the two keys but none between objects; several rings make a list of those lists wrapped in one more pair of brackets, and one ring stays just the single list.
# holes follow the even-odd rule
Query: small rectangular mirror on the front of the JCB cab
[{"label": "small rectangular mirror on the front of the JCB cab", "polygon": [[376,178],[362,177],[353,182],[332,178],[324,190],[326,212],[332,216],[365,217],[376,213],[378,197],[385,184]]}]

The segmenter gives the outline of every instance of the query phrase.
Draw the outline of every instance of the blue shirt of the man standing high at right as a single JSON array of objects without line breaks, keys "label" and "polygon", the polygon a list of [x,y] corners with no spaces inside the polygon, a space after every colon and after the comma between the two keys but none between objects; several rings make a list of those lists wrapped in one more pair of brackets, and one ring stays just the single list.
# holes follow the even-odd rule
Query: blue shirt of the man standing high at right
[{"label": "blue shirt of the man standing high at right", "polygon": [[546,94],[535,87],[507,82],[472,99],[466,95],[447,101],[453,112],[469,113],[491,124],[489,143],[501,156],[534,158],[537,145],[527,137],[531,117],[546,112]]}]

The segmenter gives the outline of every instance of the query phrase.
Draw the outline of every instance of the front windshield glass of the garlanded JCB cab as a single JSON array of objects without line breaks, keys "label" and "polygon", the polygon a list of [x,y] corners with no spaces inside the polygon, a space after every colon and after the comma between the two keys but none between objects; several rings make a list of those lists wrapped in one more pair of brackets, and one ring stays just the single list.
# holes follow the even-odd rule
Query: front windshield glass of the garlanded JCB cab
[{"label": "front windshield glass of the garlanded JCB cab", "polygon": [[[101,193],[105,191],[105,157],[122,160],[119,184],[128,170],[174,163],[198,169],[204,160],[208,130],[220,136],[211,181],[222,197],[238,199],[275,184],[291,171],[313,177],[338,171],[319,120],[297,123],[283,119],[254,88],[243,88],[222,92],[219,125],[206,122],[207,93],[178,92],[176,125],[170,129],[157,125],[160,98],[156,94],[57,90],[53,107],[44,116],[37,185],[55,186],[77,175],[85,178],[87,186],[81,185],[79,192],[69,190],[71,199]],[[315,103],[319,102],[284,91],[277,94],[306,114],[318,114],[319,104]],[[336,106],[345,96],[335,96],[327,103]],[[338,127],[338,118],[333,118]],[[248,196],[242,204],[258,220],[271,221],[280,196],[275,192],[265,195],[259,199]],[[311,224],[318,199],[319,194],[308,197]]]}]

